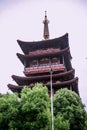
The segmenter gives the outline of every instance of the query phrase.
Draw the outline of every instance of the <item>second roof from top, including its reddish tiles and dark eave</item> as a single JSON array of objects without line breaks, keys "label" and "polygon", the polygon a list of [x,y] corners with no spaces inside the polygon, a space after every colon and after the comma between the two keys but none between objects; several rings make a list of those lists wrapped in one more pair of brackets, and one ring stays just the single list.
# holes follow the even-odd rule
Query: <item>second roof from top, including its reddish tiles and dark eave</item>
[{"label": "second roof from top, including its reddish tiles and dark eave", "polygon": [[36,58],[42,58],[44,57],[54,57],[54,56],[60,56],[60,55],[67,55],[69,53],[69,47],[62,49],[62,50],[58,50],[58,49],[48,49],[48,50],[38,50],[38,51],[32,51],[28,54],[20,54],[17,53],[18,58],[20,59],[20,61],[22,62],[22,64],[24,65],[24,61],[28,60],[31,61],[32,59],[36,59]]}]

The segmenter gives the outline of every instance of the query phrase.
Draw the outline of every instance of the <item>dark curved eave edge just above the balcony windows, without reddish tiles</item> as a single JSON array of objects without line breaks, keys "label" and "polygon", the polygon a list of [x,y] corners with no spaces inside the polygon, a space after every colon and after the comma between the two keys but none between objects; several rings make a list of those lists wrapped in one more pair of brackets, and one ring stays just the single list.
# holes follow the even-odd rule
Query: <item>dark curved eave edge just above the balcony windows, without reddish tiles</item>
[{"label": "dark curved eave edge just above the balcony windows, without reddish tiles", "polygon": [[25,60],[31,61],[32,59],[36,59],[36,58],[42,58],[42,57],[52,57],[52,56],[58,56],[58,55],[64,55],[65,53],[69,53],[69,47],[62,49],[58,52],[54,52],[51,54],[40,54],[40,55],[23,55],[20,53],[17,53],[17,57],[20,59],[20,61],[22,62],[22,64],[24,65]]}]

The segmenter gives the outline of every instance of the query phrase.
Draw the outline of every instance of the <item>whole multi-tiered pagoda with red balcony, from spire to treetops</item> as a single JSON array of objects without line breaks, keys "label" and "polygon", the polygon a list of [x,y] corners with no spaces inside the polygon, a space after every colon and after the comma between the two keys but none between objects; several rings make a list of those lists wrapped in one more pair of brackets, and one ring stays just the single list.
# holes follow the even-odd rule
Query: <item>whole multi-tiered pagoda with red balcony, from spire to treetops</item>
[{"label": "whole multi-tiered pagoda with red balcony, from spire to treetops", "polygon": [[78,77],[75,77],[75,70],[71,64],[68,33],[55,39],[49,39],[48,23],[45,12],[44,40],[34,42],[17,40],[23,51],[23,54],[17,53],[17,57],[24,66],[25,76],[12,75],[12,79],[17,85],[8,84],[8,88],[20,93],[24,86],[32,88],[38,82],[47,86],[50,92],[50,70],[52,70],[54,93],[60,88],[67,87],[79,95]]}]

